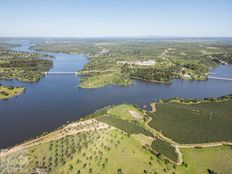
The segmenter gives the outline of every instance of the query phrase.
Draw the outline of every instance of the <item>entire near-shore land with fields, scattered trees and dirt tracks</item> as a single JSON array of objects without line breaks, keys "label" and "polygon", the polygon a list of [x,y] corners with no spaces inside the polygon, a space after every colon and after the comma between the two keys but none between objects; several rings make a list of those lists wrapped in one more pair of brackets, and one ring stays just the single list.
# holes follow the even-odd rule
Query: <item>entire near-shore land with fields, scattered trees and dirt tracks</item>
[{"label": "entire near-shore land with fields, scattered trees and dirt tracks", "polygon": [[[128,104],[105,107],[77,122],[2,151],[0,171],[2,173],[11,170],[11,172],[24,173],[229,174],[232,171],[230,134],[222,133],[217,136],[214,135],[214,129],[199,124],[197,127],[199,131],[194,130],[198,132],[198,137],[193,136],[189,139],[191,135],[182,136],[182,132],[186,131],[183,121],[194,122],[194,120],[190,119],[191,114],[179,116],[178,109],[170,106],[183,105],[181,108],[187,108],[189,112],[195,112],[196,108],[204,109],[199,118],[204,123],[207,114],[215,112],[214,108],[220,106],[218,112],[224,110],[223,117],[217,117],[215,114],[215,122],[219,123],[215,130],[223,132],[231,131],[227,126],[224,128],[223,121],[231,122],[231,101],[231,96],[198,100],[195,101],[196,104],[191,104],[191,100],[180,102],[173,99],[163,103],[153,103],[152,111]],[[166,129],[162,128],[160,118],[167,121],[166,113],[162,109],[163,105],[167,113],[172,113],[177,125],[178,122],[183,123],[183,127],[179,127],[181,131],[173,131],[179,135],[177,137],[183,139],[183,142],[174,138],[172,134],[165,133]],[[158,127],[154,126],[154,123]],[[169,122],[167,125],[172,126]],[[175,124],[172,127],[175,128]],[[172,129],[175,130],[174,128]],[[201,138],[205,134],[208,134],[210,141],[206,142]],[[12,165],[10,169],[7,168],[9,165]]]}]

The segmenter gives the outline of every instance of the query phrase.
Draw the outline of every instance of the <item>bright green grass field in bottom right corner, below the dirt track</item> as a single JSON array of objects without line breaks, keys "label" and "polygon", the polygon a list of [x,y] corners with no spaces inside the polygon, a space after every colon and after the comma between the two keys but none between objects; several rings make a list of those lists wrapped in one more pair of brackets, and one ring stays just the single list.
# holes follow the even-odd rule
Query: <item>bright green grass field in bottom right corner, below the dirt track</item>
[{"label": "bright green grass field in bottom right corner, below the dirt track", "polygon": [[217,174],[232,173],[231,146],[181,149],[181,152],[184,165],[177,168],[177,173],[210,174],[209,171]]}]

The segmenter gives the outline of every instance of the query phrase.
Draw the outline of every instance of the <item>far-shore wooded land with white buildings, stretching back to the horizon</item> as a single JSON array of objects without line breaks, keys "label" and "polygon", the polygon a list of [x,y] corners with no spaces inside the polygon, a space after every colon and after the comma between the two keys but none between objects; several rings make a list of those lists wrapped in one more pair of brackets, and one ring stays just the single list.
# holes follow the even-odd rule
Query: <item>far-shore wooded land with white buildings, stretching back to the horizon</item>
[{"label": "far-shore wooded land with white buildings, stretching back to the horizon", "polygon": [[83,81],[87,88],[114,84],[110,78],[100,83],[98,77],[115,72],[164,83],[174,78],[205,80],[209,68],[232,61],[232,42],[223,39],[89,39],[44,43],[34,49],[86,54],[90,61],[79,73],[92,81]]}]

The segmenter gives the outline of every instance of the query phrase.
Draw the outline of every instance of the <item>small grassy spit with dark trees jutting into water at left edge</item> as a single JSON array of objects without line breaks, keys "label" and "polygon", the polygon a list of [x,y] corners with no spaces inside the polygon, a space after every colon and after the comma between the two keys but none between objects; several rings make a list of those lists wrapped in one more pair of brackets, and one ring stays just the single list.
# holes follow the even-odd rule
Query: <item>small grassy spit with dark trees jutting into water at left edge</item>
[{"label": "small grassy spit with dark trees jutting into water at left edge", "polygon": [[0,85],[0,100],[10,99],[24,92],[24,87],[9,87]]}]

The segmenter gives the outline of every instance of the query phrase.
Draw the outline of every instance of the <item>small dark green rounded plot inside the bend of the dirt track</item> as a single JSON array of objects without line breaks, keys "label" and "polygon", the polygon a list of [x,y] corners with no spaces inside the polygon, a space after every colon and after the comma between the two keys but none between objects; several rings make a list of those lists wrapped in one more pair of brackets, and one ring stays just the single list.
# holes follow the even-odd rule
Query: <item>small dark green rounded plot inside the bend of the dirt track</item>
[{"label": "small dark green rounded plot inside the bend of the dirt track", "polygon": [[151,148],[158,152],[158,155],[162,154],[166,158],[178,163],[178,154],[176,153],[176,148],[168,142],[161,139],[154,140]]}]

